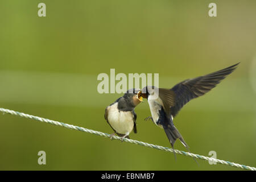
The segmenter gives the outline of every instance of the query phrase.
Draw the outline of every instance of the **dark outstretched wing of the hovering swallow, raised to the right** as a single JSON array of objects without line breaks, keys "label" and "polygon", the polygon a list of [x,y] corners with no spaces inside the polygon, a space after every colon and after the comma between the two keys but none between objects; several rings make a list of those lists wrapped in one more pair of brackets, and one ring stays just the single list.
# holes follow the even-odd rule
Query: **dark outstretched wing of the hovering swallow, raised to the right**
[{"label": "dark outstretched wing of the hovering swallow, raised to the right", "polygon": [[170,89],[175,93],[175,105],[171,107],[172,116],[175,117],[179,110],[187,104],[188,101],[193,98],[203,96],[205,93],[209,92],[218,83],[220,83],[221,80],[232,73],[234,69],[237,68],[238,64],[239,63],[205,76],[184,80],[175,85]]}]

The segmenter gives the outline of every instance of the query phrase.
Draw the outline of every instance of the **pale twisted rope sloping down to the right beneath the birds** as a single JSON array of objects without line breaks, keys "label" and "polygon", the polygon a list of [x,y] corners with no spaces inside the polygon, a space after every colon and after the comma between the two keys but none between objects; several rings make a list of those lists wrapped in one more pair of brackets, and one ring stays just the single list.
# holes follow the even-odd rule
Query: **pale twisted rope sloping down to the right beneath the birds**
[{"label": "pale twisted rope sloping down to the right beneath the birds", "polygon": [[[3,114],[7,113],[7,114],[11,114],[11,115],[18,115],[18,116],[23,117],[23,118],[34,119],[36,121],[46,122],[46,123],[49,123],[51,125],[63,126],[63,127],[66,127],[68,129],[72,129],[72,130],[84,131],[86,133],[90,133],[90,134],[94,134],[94,135],[99,135],[101,137],[108,137],[108,138],[117,139],[117,140],[120,139],[120,137],[110,136],[110,134],[102,133],[100,131],[94,131],[94,130],[90,130],[90,129],[85,129],[84,127],[69,125],[67,123],[53,121],[51,119],[46,119],[46,118],[40,118],[40,117],[37,117],[37,116],[34,116],[34,115],[30,115],[30,114],[19,113],[18,111],[14,111],[14,110],[0,108],[0,111]],[[167,152],[172,152],[172,153],[174,153],[174,151],[175,151],[176,154],[181,154],[181,155],[189,156],[191,158],[208,160],[210,162],[214,162],[214,163],[218,163],[218,164],[225,164],[225,165],[232,166],[232,167],[237,167],[237,168],[242,168],[242,169],[246,169],[246,170],[256,171],[255,167],[245,166],[245,165],[242,165],[242,164],[237,164],[237,163],[229,162],[229,161],[226,161],[226,160],[209,158],[207,156],[198,155],[198,154],[192,154],[192,153],[189,153],[189,152],[173,150],[172,148],[158,146],[158,145],[150,144],[150,143],[145,143],[145,142],[141,142],[141,141],[138,141],[138,140],[132,140],[132,139],[124,138],[123,141],[124,142],[133,143],[133,144],[139,144],[139,145],[144,146],[144,147],[155,148],[157,150],[163,150],[163,151],[167,151]]]}]

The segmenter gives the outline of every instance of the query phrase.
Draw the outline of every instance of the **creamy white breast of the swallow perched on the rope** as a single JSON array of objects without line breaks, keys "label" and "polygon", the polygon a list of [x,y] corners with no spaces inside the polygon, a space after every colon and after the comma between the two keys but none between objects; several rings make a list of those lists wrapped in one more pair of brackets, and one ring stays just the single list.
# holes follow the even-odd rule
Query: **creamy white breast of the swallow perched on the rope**
[{"label": "creamy white breast of the swallow perched on the rope", "polygon": [[118,111],[118,103],[108,107],[108,121],[119,134],[127,134],[133,131],[133,114],[131,111]]}]

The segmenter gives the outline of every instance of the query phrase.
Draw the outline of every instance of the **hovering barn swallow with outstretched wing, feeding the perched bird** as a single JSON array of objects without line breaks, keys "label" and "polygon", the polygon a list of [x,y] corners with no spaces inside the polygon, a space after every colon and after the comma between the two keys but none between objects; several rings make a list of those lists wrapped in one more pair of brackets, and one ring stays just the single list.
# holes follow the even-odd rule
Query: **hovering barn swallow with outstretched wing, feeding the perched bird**
[{"label": "hovering barn swallow with outstretched wing, feeding the perched bird", "polygon": [[[164,129],[173,149],[176,139],[179,139],[189,151],[187,143],[174,126],[173,118],[187,102],[209,92],[220,83],[221,80],[232,73],[234,69],[237,68],[238,64],[205,76],[184,80],[171,89],[145,86],[142,91],[138,93],[139,96],[147,98],[148,105],[150,106],[152,117],[147,117],[145,120],[151,119],[155,125]],[[156,92],[158,92],[158,97],[153,98],[152,96]]]}]

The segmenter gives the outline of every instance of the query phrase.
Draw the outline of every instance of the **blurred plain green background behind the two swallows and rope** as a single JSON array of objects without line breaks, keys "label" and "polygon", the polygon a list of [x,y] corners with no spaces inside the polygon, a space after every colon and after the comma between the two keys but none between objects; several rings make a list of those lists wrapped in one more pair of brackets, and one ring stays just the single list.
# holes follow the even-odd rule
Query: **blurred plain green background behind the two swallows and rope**
[{"label": "blurred plain green background behind the two swallows and rope", "polygon": [[[208,16],[210,2],[217,17]],[[241,61],[174,122],[191,152],[256,166],[255,18],[256,1],[2,0],[0,107],[112,133],[105,107],[122,94],[99,94],[99,73],[159,73],[159,86],[171,88]],[[135,111],[130,137],[170,147],[162,129],[143,121],[147,101]],[[2,170],[236,169],[8,114],[0,115],[0,146]]]}]

